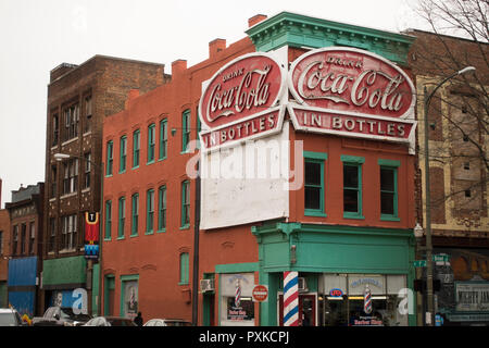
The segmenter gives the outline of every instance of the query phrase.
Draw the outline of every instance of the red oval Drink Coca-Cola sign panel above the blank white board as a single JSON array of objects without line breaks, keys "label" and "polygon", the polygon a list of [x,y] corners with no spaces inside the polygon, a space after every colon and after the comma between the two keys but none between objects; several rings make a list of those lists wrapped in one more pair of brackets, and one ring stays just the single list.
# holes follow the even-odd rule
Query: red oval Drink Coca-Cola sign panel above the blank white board
[{"label": "red oval Drink Coca-Cola sign panel above the blank white board", "polygon": [[204,87],[199,104],[202,123],[215,129],[274,107],[285,79],[280,65],[265,53],[235,59]]}]

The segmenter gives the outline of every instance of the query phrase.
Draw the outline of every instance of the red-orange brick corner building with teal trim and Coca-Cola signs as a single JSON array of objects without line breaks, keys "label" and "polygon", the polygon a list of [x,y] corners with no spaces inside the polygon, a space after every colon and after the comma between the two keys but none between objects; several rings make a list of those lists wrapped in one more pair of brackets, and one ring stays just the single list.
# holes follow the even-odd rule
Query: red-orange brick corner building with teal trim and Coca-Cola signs
[{"label": "red-orange brick corner building with teal trim and Coca-Cola signs", "polygon": [[[369,286],[371,323],[413,325],[415,313],[396,311],[400,290],[412,288],[414,279],[416,123],[406,66],[413,38],[287,12],[265,18],[250,20],[249,37],[228,47],[223,39],[212,41],[209,59],[195,66],[174,62],[170,83],[141,96],[130,92],[126,109],[105,119],[103,312],[134,316],[141,311],[145,320],[190,321],[197,289],[199,324],[279,325],[283,274],[292,271],[300,278],[300,324],[358,322]],[[379,92],[369,96],[366,116],[336,105],[337,98],[329,98],[337,101],[326,108],[300,102],[308,95],[302,87],[292,89],[292,71],[313,54],[337,54],[326,61],[347,66],[343,74],[359,74],[369,60],[384,76],[397,74],[392,84],[405,85],[390,111],[402,105],[402,117],[386,111],[386,99],[397,96],[392,89],[383,108]],[[247,62],[254,62],[249,63],[253,67]],[[269,84],[268,73],[275,76]],[[252,74],[262,79],[247,79]],[[328,87],[319,74],[308,77],[308,88],[319,86],[321,79],[323,89],[341,95],[346,84],[359,78],[338,73],[342,77],[331,77],[334,86]],[[226,82],[235,85],[225,89],[221,84]],[[250,87],[255,83],[256,89]],[[250,88],[246,97],[243,88]],[[362,88],[354,104],[366,102],[368,88]],[[246,119],[233,119],[233,112],[211,115],[229,111],[235,102],[246,104]],[[329,128],[326,119],[331,120]],[[187,146],[200,129],[202,149],[195,154]],[[263,163],[263,158],[253,160],[269,171],[263,177],[244,173],[250,162],[240,166],[233,157],[246,153],[248,146],[268,153]],[[193,179],[197,160],[200,181]],[[217,166],[214,160],[221,161]],[[285,172],[274,172],[278,167]],[[224,171],[212,173],[215,169]],[[199,272],[193,277],[196,217]],[[267,287],[268,301],[252,301],[256,284]],[[334,298],[334,289],[342,295]]]}]

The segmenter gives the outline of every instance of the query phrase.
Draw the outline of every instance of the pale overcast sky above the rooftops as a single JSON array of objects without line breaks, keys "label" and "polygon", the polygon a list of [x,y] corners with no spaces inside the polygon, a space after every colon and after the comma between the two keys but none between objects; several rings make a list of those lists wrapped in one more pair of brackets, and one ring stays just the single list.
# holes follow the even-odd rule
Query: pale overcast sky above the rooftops
[{"label": "pale overcast sky above the rooftops", "polygon": [[208,58],[209,42],[246,36],[248,18],[281,11],[390,32],[422,23],[416,0],[0,0],[1,208],[45,181],[49,72],[95,54],[163,63]]}]

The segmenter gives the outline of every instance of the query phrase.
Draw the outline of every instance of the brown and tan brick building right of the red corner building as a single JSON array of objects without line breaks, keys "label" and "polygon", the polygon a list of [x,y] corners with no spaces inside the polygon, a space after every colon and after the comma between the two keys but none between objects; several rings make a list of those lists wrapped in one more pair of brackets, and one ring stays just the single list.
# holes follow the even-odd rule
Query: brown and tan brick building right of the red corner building
[{"label": "brown and tan brick building right of the red corner building", "polygon": [[[435,265],[435,279],[441,282],[435,293],[435,310],[443,315],[444,324],[488,324],[489,303],[481,294],[489,291],[489,138],[485,127],[487,94],[481,90],[489,85],[485,60],[489,45],[415,29],[406,34],[416,37],[409,59],[419,100],[416,220],[425,231],[424,89],[430,92],[444,77],[465,66],[476,67],[475,75],[465,74],[443,84],[431,99],[427,115],[434,253],[447,254],[450,260]],[[424,244],[424,238],[421,241]],[[423,276],[422,270],[417,272]]]}]

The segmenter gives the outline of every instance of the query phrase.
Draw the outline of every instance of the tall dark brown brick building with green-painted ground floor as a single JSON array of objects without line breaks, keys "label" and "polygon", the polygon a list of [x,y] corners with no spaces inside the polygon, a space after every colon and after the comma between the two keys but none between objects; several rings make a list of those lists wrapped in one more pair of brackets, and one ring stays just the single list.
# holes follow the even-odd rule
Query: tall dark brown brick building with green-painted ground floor
[{"label": "tall dark brown brick building with green-painted ground floor", "polygon": [[[63,298],[63,306],[70,306],[74,288],[91,288],[91,278],[87,279],[87,271],[90,274],[91,270],[87,270],[84,258],[84,212],[100,211],[103,119],[124,109],[130,89],[146,92],[164,84],[166,78],[162,64],[103,55],[95,55],[80,65],[63,63],[51,71],[45,172],[43,307],[50,306],[54,295]],[[55,153],[68,157],[59,161]]]}]

